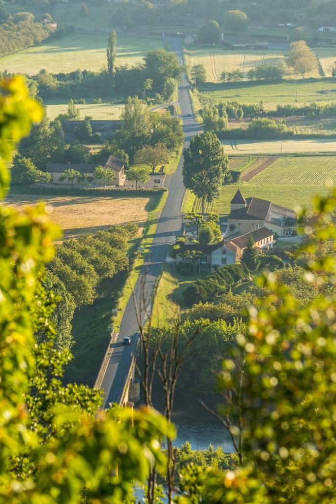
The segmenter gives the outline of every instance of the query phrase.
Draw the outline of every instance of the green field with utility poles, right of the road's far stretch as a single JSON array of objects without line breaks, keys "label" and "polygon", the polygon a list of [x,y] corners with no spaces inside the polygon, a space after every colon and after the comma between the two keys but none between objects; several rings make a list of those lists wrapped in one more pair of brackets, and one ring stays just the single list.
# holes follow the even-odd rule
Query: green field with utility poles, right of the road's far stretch
[{"label": "green field with utility poles, right of the road's far stretch", "polygon": [[278,103],[327,102],[336,100],[336,80],[298,79],[280,83],[205,84],[196,91],[200,106],[211,101],[237,101],[239,103],[263,102],[266,110],[276,110]]}]

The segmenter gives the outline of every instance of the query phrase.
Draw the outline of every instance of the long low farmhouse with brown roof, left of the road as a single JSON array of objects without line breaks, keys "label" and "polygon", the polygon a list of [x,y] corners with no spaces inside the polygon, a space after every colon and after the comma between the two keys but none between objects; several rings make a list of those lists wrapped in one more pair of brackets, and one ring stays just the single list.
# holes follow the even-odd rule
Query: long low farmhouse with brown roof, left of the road
[{"label": "long low farmhouse with brown roof, left of the road", "polygon": [[[51,183],[56,184],[69,184],[69,180],[65,179],[60,181],[59,178],[62,176],[65,170],[74,169],[83,173],[85,175],[85,182],[95,183],[93,176],[94,169],[99,164],[71,164],[71,163],[48,163],[47,173],[50,173],[52,177]],[[125,181],[125,166],[121,159],[111,155],[105,163],[105,168],[113,170],[115,173],[115,178],[112,182],[107,182],[107,185],[122,185]],[[98,180],[97,183],[100,183]]]}]

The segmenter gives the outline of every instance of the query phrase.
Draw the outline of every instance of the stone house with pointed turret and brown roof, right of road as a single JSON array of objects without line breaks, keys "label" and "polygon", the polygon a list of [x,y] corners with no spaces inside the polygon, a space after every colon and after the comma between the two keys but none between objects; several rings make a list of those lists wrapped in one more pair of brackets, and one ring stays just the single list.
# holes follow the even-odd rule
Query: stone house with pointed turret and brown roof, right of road
[{"label": "stone house with pointed turret and brown roof, right of road", "polygon": [[245,234],[266,227],[278,236],[291,236],[297,225],[297,214],[285,207],[259,198],[244,198],[238,190],[230,203],[227,234]]}]

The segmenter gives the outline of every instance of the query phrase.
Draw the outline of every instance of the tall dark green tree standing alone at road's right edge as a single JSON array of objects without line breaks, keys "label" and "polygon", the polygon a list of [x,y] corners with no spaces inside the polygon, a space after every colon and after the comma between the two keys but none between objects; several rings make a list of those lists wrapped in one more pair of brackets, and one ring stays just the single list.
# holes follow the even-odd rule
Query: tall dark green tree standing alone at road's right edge
[{"label": "tall dark green tree standing alone at road's right edge", "polygon": [[229,159],[214,133],[196,135],[183,151],[183,183],[201,200],[202,212],[206,203],[213,203],[228,177]]}]

